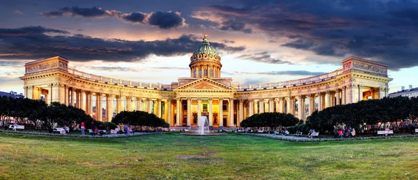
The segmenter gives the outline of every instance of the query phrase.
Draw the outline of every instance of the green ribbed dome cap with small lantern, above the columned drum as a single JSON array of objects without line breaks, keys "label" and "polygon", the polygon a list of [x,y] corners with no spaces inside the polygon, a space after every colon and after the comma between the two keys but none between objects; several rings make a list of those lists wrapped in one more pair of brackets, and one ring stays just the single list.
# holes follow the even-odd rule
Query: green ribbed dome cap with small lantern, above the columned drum
[{"label": "green ribbed dome cap with small lantern, above the columned drum", "polygon": [[190,57],[190,60],[221,60],[219,55],[217,54],[217,51],[210,47],[208,35],[205,34],[205,38],[203,38],[203,42],[201,46],[194,51],[193,56]]}]

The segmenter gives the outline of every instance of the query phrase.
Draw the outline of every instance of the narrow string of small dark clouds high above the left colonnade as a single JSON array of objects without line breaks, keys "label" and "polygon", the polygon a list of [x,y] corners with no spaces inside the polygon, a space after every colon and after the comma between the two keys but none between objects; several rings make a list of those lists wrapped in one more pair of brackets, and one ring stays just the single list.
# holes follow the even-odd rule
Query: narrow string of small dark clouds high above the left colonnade
[{"label": "narrow string of small dark clouds high above the left colonnade", "polygon": [[61,17],[61,16],[70,16],[70,17],[90,17],[90,18],[103,18],[103,17],[114,17],[121,19],[124,22],[129,22],[132,24],[147,23],[153,26],[157,26],[163,29],[174,28],[178,26],[187,26],[186,20],[181,17],[181,14],[178,12],[152,12],[152,13],[121,13],[118,10],[103,10],[97,6],[93,8],[79,8],[77,6],[61,8],[58,11],[45,11],[40,13],[45,17]]}]

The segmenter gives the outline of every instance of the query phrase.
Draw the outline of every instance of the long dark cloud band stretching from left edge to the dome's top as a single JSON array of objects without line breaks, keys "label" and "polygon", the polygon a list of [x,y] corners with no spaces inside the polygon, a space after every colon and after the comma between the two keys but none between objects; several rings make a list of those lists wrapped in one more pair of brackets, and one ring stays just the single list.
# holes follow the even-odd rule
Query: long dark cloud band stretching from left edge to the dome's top
[{"label": "long dark cloud band stretching from left edge to the dome's top", "polygon": [[[50,33],[54,33],[51,35]],[[119,39],[92,38],[77,34],[68,35],[61,31],[42,26],[24,28],[0,28],[0,58],[37,59],[63,56],[75,61],[104,60],[141,61],[155,54],[157,56],[180,56],[191,54],[201,41],[194,35],[155,41],[128,41]],[[218,51],[243,51],[245,47],[229,47],[211,42]]]}]

